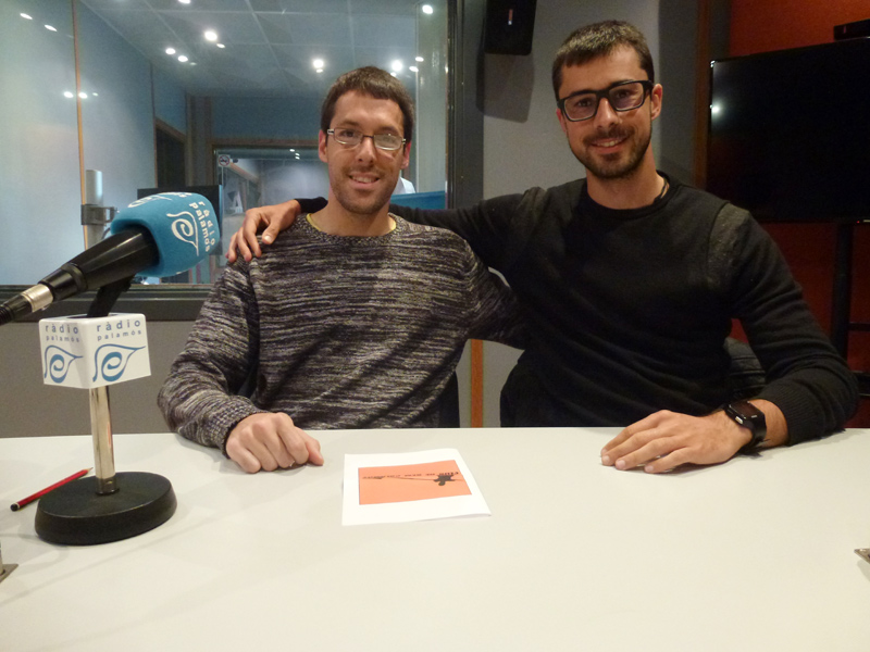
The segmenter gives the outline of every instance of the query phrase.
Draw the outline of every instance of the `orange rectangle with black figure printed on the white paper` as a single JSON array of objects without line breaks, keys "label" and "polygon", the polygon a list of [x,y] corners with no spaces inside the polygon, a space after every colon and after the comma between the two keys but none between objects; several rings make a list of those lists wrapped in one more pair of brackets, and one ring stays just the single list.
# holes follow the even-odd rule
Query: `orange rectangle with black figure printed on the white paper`
[{"label": "orange rectangle with black figure printed on the white paper", "polygon": [[360,468],[360,504],[471,496],[456,461]]}]

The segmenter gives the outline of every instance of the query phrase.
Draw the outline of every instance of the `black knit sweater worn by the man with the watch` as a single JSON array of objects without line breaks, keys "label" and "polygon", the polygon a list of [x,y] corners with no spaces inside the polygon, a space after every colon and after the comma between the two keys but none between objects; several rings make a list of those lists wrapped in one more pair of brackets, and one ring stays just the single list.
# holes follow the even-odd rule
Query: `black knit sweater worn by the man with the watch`
[{"label": "black knit sweater worn by the man with the watch", "polygon": [[[854,375],[776,246],[748,213],[707,192],[671,180],[649,206],[610,210],[581,179],[460,211],[391,210],[461,235],[517,292],[532,343],[510,399],[536,415],[517,425],[625,426],[662,409],[707,414],[729,397],[732,318],[767,372],[758,398],[782,410],[791,443],[855,412]],[[549,405],[545,415],[537,403]]]}]

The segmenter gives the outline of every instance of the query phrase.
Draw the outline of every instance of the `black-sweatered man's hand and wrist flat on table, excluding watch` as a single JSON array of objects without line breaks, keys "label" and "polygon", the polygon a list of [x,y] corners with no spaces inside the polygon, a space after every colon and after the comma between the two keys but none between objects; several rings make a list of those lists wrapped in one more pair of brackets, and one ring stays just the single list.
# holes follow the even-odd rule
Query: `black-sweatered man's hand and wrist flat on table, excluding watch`
[{"label": "black-sweatered man's hand and wrist flat on table, excluding watch", "polygon": [[[766,447],[785,442],[785,418],[768,401],[758,401],[767,417]],[[647,473],[671,471],[681,464],[726,462],[749,443],[751,434],[724,412],[689,416],[662,410],[622,430],[605,446],[601,463],[620,471],[643,466]]]}]

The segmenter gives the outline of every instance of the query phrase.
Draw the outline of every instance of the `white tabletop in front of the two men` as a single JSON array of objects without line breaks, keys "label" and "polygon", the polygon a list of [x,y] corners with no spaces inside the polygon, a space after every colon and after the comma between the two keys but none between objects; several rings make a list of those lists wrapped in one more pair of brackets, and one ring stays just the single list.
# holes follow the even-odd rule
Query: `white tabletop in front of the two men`
[{"label": "white tabletop in front of the two men", "polygon": [[[246,475],[170,434],[114,438],[175,515],[63,547],[8,505],[89,437],[0,439],[0,650],[870,650],[870,431],[652,476],[616,430],[325,431],[326,465]],[[341,526],[345,453],[457,448],[493,515]]]}]

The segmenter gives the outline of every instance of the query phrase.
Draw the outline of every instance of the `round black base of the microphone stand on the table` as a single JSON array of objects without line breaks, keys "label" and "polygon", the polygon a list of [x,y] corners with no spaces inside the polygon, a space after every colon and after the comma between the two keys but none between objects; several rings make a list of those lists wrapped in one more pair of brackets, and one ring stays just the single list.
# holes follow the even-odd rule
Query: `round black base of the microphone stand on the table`
[{"label": "round black base of the microphone stand on the table", "polygon": [[39,499],[36,534],[51,543],[108,543],[147,532],[175,513],[175,493],[163,476],[119,473],[115,481],[114,493],[97,493],[97,478],[88,477]]}]

